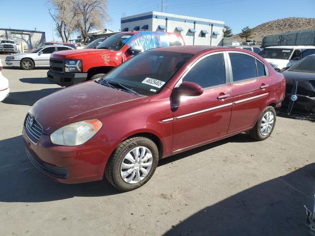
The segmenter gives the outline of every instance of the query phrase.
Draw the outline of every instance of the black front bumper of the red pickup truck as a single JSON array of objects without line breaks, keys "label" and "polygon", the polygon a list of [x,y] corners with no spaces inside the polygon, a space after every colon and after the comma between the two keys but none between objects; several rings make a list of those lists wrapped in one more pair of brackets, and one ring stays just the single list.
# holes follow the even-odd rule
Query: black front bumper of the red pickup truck
[{"label": "black front bumper of the red pickup truck", "polygon": [[58,73],[49,70],[47,72],[47,78],[54,84],[62,87],[75,85],[87,80],[88,73]]}]

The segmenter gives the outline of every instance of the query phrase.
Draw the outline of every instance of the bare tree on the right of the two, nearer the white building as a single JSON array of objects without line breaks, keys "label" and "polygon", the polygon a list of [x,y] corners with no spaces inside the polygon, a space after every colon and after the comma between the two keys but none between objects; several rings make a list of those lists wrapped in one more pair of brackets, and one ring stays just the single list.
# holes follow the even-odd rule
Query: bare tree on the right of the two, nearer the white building
[{"label": "bare tree on the right of the two, nearer the white building", "polygon": [[103,27],[103,21],[108,21],[107,0],[71,0],[73,9],[78,16],[76,29],[81,33],[83,41],[88,41],[91,29]]}]

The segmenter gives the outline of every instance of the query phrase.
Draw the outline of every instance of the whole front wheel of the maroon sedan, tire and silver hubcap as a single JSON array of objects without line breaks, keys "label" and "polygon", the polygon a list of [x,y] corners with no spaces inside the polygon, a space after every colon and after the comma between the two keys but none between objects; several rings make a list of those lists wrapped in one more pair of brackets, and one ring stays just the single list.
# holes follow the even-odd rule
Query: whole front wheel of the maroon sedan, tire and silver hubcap
[{"label": "whole front wheel of the maroon sedan, tire and silver hubcap", "polygon": [[[137,161],[135,162],[135,164],[129,161],[130,155],[132,158],[135,156],[133,153],[133,150],[135,150],[136,148],[139,148],[139,152],[138,152],[140,154],[139,158],[141,158],[141,154],[144,153],[144,158],[142,160],[144,160],[145,157],[147,156],[150,157],[150,152],[151,152],[152,158],[148,159],[147,162],[142,163],[143,165],[145,164],[148,165],[152,162],[150,168],[149,166],[148,167],[142,166]],[[145,152],[143,152],[144,149],[146,150]],[[128,167],[129,169],[125,169],[123,168],[125,167],[125,165],[130,165],[130,166],[133,165],[133,167],[130,167],[130,168]],[[105,177],[112,185],[114,185],[114,187],[118,188],[119,190],[131,191],[131,190],[141,187],[147,181],[149,181],[149,179],[152,177],[153,173],[155,172],[157,166],[158,166],[157,145],[148,138],[134,137],[134,138],[130,138],[122,142],[115,149],[115,151],[113,152],[113,154],[111,155],[110,159],[107,162],[107,165],[105,168]],[[148,169],[149,171],[147,172]],[[131,171],[131,170],[134,170],[134,171]],[[128,171],[130,172],[129,175],[126,174]],[[147,174],[145,175],[143,171],[147,172]],[[123,178],[123,175],[124,177],[125,175],[127,176]],[[141,180],[138,181],[137,178]]]}]

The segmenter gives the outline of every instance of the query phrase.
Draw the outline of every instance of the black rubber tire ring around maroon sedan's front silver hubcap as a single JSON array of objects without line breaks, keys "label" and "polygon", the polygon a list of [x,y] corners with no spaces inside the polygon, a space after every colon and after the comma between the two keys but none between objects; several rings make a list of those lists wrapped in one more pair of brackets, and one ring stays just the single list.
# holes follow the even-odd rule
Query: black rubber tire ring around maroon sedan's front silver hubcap
[{"label": "black rubber tire ring around maroon sedan's front silver hubcap", "polygon": [[[139,146],[146,147],[151,151],[152,156],[153,156],[153,163],[152,163],[151,170],[148,173],[148,175],[144,179],[142,179],[140,182],[132,183],[132,184],[126,183],[120,175],[121,163],[123,162],[124,156],[126,155],[126,153],[128,153],[133,148],[136,148]],[[142,185],[144,185],[147,181],[149,181],[149,179],[154,174],[157,166],[158,166],[158,148],[155,145],[155,143],[146,138],[134,140],[117,154],[117,158],[115,160],[115,164],[113,168],[114,182],[119,189],[124,190],[124,191],[130,191],[130,190],[139,188]]]}]

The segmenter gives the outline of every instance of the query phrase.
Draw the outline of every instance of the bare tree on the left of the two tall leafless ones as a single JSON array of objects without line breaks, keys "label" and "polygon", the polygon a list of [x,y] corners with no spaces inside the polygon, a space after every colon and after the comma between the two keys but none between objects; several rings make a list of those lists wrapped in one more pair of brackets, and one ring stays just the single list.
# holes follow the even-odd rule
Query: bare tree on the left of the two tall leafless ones
[{"label": "bare tree on the left of the two tall leafless ones", "polygon": [[71,0],[48,0],[48,13],[56,24],[57,35],[63,42],[68,42],[76,26],[76,12],[71,7]]}]

